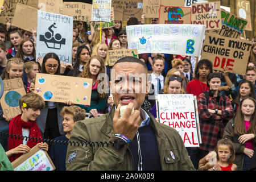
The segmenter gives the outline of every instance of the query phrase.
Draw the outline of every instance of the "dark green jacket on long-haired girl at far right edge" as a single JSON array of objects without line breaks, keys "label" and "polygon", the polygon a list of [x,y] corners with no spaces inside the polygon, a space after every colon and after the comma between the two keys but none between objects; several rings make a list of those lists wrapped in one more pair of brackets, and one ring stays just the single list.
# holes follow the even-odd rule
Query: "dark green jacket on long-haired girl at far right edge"
[{"label": "dark green jacket on long-haired girl at far right edge", "polygon": [[[245,153],[243,153],[243,150],[245,150],[245,144],[241,144],[238,141],[238,137],[233,137],[233,131],[234,131],[234,121],[233,119],[230,119],[229,122],[226,124],[224,134],[222,138],[228,138],[232,140],[234,144],[234,150],[236,151],[236,159],[234,160],[234,164],[237,165],[238,171],[242,171],[243,168],[243,160],[245,159]],[[256,144],[256,135],[253,140],[253,146],[255,147]]]}]

